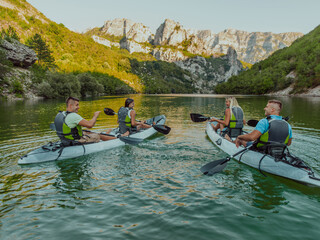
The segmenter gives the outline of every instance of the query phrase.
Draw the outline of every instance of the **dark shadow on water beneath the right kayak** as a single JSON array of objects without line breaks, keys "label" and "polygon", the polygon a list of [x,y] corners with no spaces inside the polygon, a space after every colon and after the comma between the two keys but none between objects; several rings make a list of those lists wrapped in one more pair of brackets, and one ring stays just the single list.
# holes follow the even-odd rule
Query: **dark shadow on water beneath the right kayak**
[{"label": "dark shadow on water beneath the right kayak", "polygon": [[320,202],[320,188],[306,186],[299,182],[269,173],[260,173],[256,169],[240,164],[235,169],[225,170],[228,180],[226,186],[241,194],[241,199],[253,207],[274,210],[278,206],[287,205],[291,199],[287,193],[305,194]]}]

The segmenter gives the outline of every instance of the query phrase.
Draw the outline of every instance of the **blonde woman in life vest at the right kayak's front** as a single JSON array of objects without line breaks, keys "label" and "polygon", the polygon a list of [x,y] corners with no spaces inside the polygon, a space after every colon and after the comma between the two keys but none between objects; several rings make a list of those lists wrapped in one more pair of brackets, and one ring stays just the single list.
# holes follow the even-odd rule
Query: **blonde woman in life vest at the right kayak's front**
[{"label": "blonde woman in life vest at the right kayak's front", "polygon": [[226,110],[222,120],[212,117],[210,122],[217,122],[217,125],[212,124],[215,131],[220,129],[221,135],[225,134],[227,139],[237,137],[242,133],[243,125],[246,124],[242,108],[235,97],[226,98]]}]

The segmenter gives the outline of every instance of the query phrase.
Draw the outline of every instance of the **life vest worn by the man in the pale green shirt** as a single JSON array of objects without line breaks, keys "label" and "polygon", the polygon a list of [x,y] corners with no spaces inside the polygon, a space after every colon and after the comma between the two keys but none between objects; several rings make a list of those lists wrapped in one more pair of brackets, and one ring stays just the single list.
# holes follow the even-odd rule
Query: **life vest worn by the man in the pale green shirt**
[{"label": "life vest worn by the man in the pale green shirt", "polygon": [[82,127],[77,125],[74,128],[70,128],[66,123],[65,119],[71,112],[61,112],[57,114],[54,119],[54,125],[56,126],[56,132],[61,141],[75,141],[82,137]]}]

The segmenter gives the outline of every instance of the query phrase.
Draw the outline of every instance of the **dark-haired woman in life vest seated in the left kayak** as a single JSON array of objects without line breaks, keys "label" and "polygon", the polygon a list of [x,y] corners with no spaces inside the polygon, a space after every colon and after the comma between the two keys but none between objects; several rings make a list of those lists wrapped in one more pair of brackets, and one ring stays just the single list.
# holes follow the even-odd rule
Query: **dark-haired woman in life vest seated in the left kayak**
[{"label": "dark-haired woman in life vest seated in the left kayak", "polygon": [[124,107],[118,111],[119,131],[121,134],[132,131],[139,131],[141,128],[151,128],[152,125],[146,124],[146,121],[136,120],[136,111],[133,109],[134,100],[127,98]]}]

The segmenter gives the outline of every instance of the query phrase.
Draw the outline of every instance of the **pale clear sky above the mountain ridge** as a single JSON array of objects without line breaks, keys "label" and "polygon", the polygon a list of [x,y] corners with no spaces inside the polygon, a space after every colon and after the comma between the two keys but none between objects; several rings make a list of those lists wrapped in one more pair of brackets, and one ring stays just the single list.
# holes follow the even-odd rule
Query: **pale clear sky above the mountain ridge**
[{"label": "pale clear sky above the mountain ridge", "polygon": [[320,0],[27,0],[76,32],[127,18],[153,33],[169,18],[185,29],[310,32],[320,24]]}]

